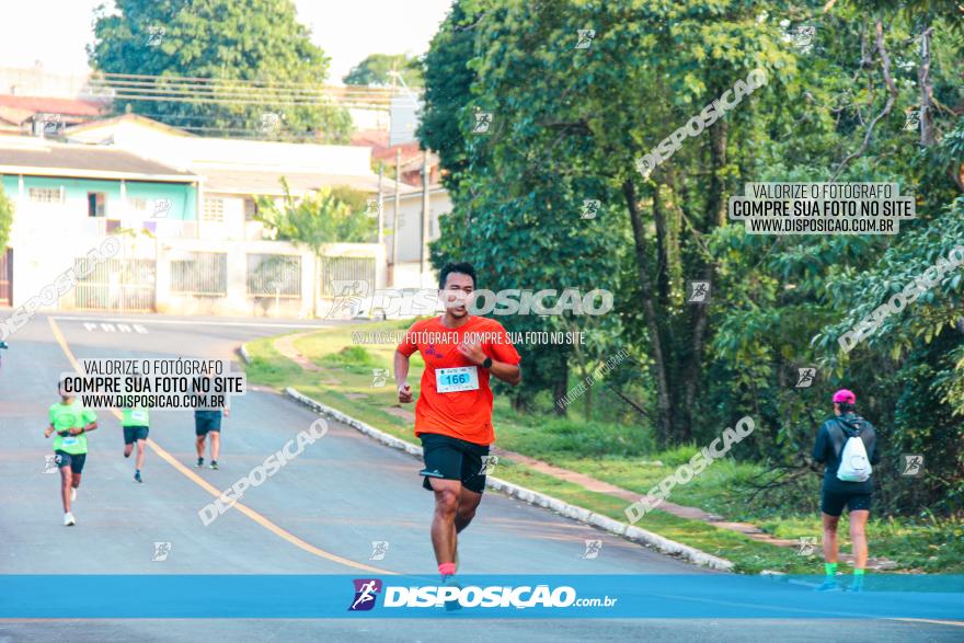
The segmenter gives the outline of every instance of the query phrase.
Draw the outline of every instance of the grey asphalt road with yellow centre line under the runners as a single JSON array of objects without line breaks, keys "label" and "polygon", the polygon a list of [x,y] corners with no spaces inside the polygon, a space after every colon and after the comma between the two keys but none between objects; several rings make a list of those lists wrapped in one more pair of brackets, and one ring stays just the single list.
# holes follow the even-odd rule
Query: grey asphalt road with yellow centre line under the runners
[{"label": "grey asphalt road with yellow centre line under the runners", "polygon": [[[105,321],[110,320],[110,321]],[[123,328],[122,328],[123,324]],[[135,324],[138,324],[135,326]],[[242,504],[208,526],[197,512],[317,416],[265,390],[236,399],[222,424],[221,469],[195,469],[190,411],[157,411],[144,469],[133,482],[133,461],[122,455],[119,422],[101,412],[73,507],[78,525],[65,528],[59,475],[45,473],[50,443],[43,437],[46,409],[57,401],[57,379],[70,356],[234,358],[244,341],[319,325],[305,322],[168,318],[160,315],[36,317],[9,340],[0,368],[0,574],[353,574],[376,567],[429,574],[432,495],[421,489],[420,462],[352,428],[330,423],[329,434]],[[59,335],[59,336],[58,336]],[[351,410],[346,410],[351,412]],[[595,559],[585,541],[602,541]],[[370,561],[372,541],[387,555]],[[157,542],[170,543],[153,561]],[[707,574],[617,537],[486,494],[460,538],[464,574]],[[67,555],[64,555],[64,554]],[[69,582],[51,595],[69,594]],[[217,600],[218,597],[211,597]],[[544,621],[469,621],[464,641],[964,640],[953,624],[875,621],[588,621],[564,627]],[[558,621],[556,621],[558,623]],[[431,641],[451,624],[429,620],[0,620],[5,641]]]}]

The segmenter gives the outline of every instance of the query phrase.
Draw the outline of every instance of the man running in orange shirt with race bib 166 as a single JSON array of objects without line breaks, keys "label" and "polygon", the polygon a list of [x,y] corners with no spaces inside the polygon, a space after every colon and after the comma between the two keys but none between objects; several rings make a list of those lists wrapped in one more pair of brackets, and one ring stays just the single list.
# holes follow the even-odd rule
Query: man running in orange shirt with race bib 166
[{"label": "man running in orange shirt with race bib 166", "polygon": [[456,535],[469,526],[485,490],[492,429],[490,374],[513,386],[523,379],[521,358],[495,320],[469,314],[475,289],[471,264],[448,264],[439,275],[445,314],[415,322],[395,352],[399,402],[412,401],[409,357],[425,360],[415,405],[415,435],[422,439],[423,486],[435,492],[432,546],[443,583],[456,573]]}]

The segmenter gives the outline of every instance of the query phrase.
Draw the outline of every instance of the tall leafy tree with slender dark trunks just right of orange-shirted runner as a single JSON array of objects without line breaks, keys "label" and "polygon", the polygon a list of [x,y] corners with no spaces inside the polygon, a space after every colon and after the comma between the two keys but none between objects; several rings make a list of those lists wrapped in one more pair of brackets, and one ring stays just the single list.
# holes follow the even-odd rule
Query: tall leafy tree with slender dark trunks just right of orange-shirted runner
[{"label": "tall leafy tree with slender dark trunks just right of orange-shirted runner", "polygon": [[[724,192],[735,183],[724,177],[749,148],[727,137],[721,120],[687,141],[654,180],[639,175],[635,160],[672,133],[667,124],[685,124],[761,61],[793,71],[772,39],[759,37],[755,9],[716,4],[711,20],[696,1],[466,0],[425,59],[422,136],[450,164],[461,215],[451,229],[461,246],[474,248],[477,229],[490,251],[504,242],[512,261],[497,267],[501,276],[552,279],[519,261],[529,253],[552,257],[553,269],[576,283],[619,276],[617,289],[632,302],[622,311],[622,338],[646,346],[663,440],[690,438],[709,329],[707,310],[682,302],[684,276],[712,273],[702,237],[720,226]],[[577,49],[587,24],[596,38]],[[433,83],[446,77],[460,84],[436,91]],[[742,108],[730,119],[753,118],[751,101]],[[492,131],[472,136],[473,116],[486,112]],[[586,199],[599,202],[605,216],[574,231]]]}]

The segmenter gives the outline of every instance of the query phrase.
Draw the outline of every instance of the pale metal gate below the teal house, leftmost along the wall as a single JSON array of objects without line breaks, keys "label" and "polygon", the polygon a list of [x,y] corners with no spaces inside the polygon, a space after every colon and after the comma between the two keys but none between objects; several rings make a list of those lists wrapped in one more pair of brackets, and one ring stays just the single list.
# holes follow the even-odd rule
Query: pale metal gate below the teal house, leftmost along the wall
[{"label": "pale metal gate below the teal house, leftmost along the wall", "polygon": [[88,257],[77,257],[73,269],[78,275],[73,290],[77,310],[123,310],[152,312],[157,262],[152,259],[108,259],[96,263],[89,275]]}]

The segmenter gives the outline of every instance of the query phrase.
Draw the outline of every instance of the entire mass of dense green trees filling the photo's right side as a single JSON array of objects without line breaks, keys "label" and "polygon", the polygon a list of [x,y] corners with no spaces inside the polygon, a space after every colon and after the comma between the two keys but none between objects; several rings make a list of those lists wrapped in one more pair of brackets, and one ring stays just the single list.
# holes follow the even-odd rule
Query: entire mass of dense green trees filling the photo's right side
[{"label": "entire mass of dense green trees filling the photo's right side", "polygon": [[[857,361],[834,355],[838,322],[881,303],[883,291],[861,275],[876,283],[890,274],[882,262],[903,275],[937,253],[905,227],[932,227],[922,239],[942,231],[946,242],[957,230],[959,209],[949,204],[961,194],[964,161],[955,127],[964,104],[955,77],[961,22],[953,9],[921,15],[875,4],[840,2],[823,14],[736,0],[456,2],[425,57],[420,137],[449,170],[455,205],[434,264],[473,257],[486,279],[508,287],[562,279],[610,287],[619,335],[601,351],[622,343],[647,356],[647,405],[664,443],[702,439],[753,413],[757,453],[794,455],[822,420],[826,389],[841,383],[868,391],[861,407],[882,426],[909,432],[902,423],[922,405],[925,433],[937,435],[964,390],[954,348],[964,335],[949,325],[960,282],[942,291],[938,310],[920,309],[926,324],[868,343]],[[785,32],[806,24],[816,36],[801,48]],[[595,37],[577,49],[587,25]],[[767,71],[762,88],[687,135],[649,175],[635,171],[636,159],[757,68]],[[931,133],[906,130],[905,114],[925,103],[933,106]],[[471,128],[478,113],[492,114],[482,136]],[[834,177],[916,188],[920,220],[896,238],[768,238],[726,220],[727,197],[748,181]],[[584,229],[569,225],[590,196],[602,216]],[[685,282],[698,278],[712,282],[708,307],[684,300]],[[910,342],[899,357],[890,355],[896,337]],[[949,347],[952,356],[942,357]],[[535,379],[542,389],[569,364],[582,368],[575,353],[524,351],[526,364],[552,371]],[[796,389],[796,369],[814,364],[819,384]],[[939,395],[907,383],[920,374],[934,377]],[[891,394],[905,386],[906,398]]]}]

